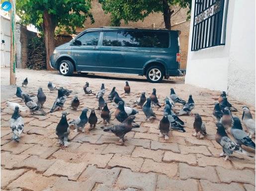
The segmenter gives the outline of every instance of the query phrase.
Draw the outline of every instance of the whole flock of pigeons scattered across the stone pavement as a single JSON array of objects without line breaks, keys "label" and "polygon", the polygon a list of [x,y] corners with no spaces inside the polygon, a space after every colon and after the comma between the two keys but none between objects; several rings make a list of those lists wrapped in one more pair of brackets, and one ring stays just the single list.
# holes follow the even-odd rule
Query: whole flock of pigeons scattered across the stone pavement
[{"label": "whole flock of pigeons scattered across the stone pavement", "polygon": [[[126,81],[124,86],[124,93],[129,95],[131,92],[131,88],[129,83]],[[22,87],[27,86],[28,80],[27,78],[22,82]],[[59,109],[62,110],[63,105],[65,104],[66,98],[72,93],[72,91],[65,89],[63,87],[57,88],[52,82],[48,83],[48,88],[50,91],[58,90],[58,96],[53,104],[50,113],[55,112]],[[103,95],[105,94],[106,90],[104,87],[104,83],[102,83],[100,90],[97,94],[93,93],[93,91],[89,87],[89,83],[86,82],[84,87],[85,95],[93,94],[98,99],[98,108],[101,113],[100,117],[103,119],[104,127],[101,127],[103,131],[112,132],[116,136],[120,138],[119,142],[121,145],[124,144],[125,141],[125,134],[132,130],[132,128],[140,127],[134,121],[136,118],[136,114],[139,112],[130,107],[129,104],[125,103],[125,101],[118,95],[115,91],[115,87],[113,87],[112,91],[108,95],[107,101],[103,99]],[[42,88],[38,89],[37,96],[28,95],[17,87],[16,96],[21,98],[22,101],[25,102],[25,105],[29,108],[30,113],[34,115],[46,115],[46,112],[43,111],[42,107],[46,101],[46,95],[44,94]],[[116,111],[114,112],[115,118],[120,122],[118,125],[110,125],[111,113],[108,109],[107,104],[109,102],[113,102],[112,104],[116,106]],[[177,112],[176,114],[172,110],[175,104],[182,104],[182,109]],[[13,102],[6,102],[7,106],[14,110],[14,113],[10,119],[10,127],[13,132],[12,139],[15,141],[19,141],[20,135],[24,128],[24,121],[23,118],[19,115],[20,111],[25,111],[26,109],[20,106],[17,103]],[[157,94],[156,89],[153,89],[149,98],[146,98],[145,92],[142,92],[140,98],[134,102],[137,104],[138,107],[142,108],[146,116],[146,120],[149,121],[152,118],[156,118],[156,115],[153,111],[153,107],[161,107]],[[80,105],[80,101],[78,96],[75,96],[72,99],[71,107],[74,110]],[[195,129],[195,133],[193,136],[198,138],[204,138],[207,135],[206,126],[202,121],[202,118],[199,114],[192,114],[191,111],[194,109],[195,104],[192,99],[192,95],[189,95],[188,101],[184,101],[180,99],[174,92],[174,89],[171,88],[170,96],[167,96],[165,99],[165,108],[163,112],[163,118],[159,122],[159,129],[160,129],[160,137],[164,136],[167,140],[169,139],[169,132],[171,130],[177,130],[180,132],[185,132],[184,129],[184,122],[179,119],[178,116],[181,115],[194,115],[195,121],[193,127]],[[213,115],[217,119],[216,127],[217,133],[215,140],[222,146],[223,152],[220,154],[221,156],[226,155],[224,160],[233,154],[233,152],[241,153],[250,156],[250,154],[244,150],[241,145],[249,146],[255,149],[255,143],[251,139],[252,136],[255,134],[255,120],[250,113],[250,109],[246,106],[243,107],[243,123],[245,127],[247,127],[249,134],[247,134],[242,127],[240,119],[233,115],[231,112],[237,111],[227,100],[226,92],[222,92],[220,95],[218,102],[215,103]],[[95,128],[97,123],[97,116],[95,114],[94,109],[90,110],[90,115],[87,118],[88,108],[84,108],[81,115],[78,119],[72,120],[68,123],[67,121],[67,112],[62,112],[62,117],[59,124],[56,127],[56,134],[59,137],[59,143],[66,147],[68,146],[68,135],[70,133],[70,126],[75,126],[75,131],[81,130],[82,132],[85,131],[85,125],[89,124],[89,129],[92,130]],[[226,133],[226,130],[229,130],[231,135],[234,137],[235,141],[231,140]],[[252,157],[252,156],[250,156]]]}]

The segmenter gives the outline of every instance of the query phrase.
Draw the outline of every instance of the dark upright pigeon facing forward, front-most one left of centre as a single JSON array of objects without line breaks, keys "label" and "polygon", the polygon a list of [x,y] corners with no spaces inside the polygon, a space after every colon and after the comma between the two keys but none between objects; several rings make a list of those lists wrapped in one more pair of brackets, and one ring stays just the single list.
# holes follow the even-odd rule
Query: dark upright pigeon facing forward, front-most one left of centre
[{"label": "dark upright pigeon facing forward, front-most one left of centre", "polygon": [[59,137],[59,143],[64,147],[68,146],[68,135],[70,133],[70,128],[66,116],[67,112],[62,112],[61,120],[56,127],[56,134]]}]

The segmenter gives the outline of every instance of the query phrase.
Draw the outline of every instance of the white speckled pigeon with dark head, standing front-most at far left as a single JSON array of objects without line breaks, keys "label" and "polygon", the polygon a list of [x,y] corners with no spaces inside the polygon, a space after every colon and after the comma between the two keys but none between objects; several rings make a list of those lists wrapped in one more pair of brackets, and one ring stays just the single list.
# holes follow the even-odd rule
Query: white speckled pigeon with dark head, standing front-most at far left
[{"label": "white speckled pigeon with dark head, standing front-most at far left", "polygon": [[13,133],[12,140],[15,140],[16,142],[19,142],[20,135],[23,132],[24,129],[24,120],[19,115],[19,107],[16,106],[14,109],[14,113],[11,116],[10,119],[10,128]]}]

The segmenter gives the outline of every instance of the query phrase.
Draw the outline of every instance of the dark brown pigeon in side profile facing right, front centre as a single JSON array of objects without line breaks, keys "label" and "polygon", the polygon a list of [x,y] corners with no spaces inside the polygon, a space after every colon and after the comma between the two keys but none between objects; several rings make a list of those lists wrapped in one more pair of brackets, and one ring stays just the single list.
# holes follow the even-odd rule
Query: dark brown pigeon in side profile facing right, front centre
[{"label": "dark brown pigeon in side profile facing right, front centre", "polygon": [[121,145],[124,144],[124,136],[127,132],[130,132],[133,128],[132,122],[134,121],[135,116],[129,116],[126,120],[124,120],[120,125],[103,127],[103,131],[112,132],[116,136],[120,138],[119,142]]}]

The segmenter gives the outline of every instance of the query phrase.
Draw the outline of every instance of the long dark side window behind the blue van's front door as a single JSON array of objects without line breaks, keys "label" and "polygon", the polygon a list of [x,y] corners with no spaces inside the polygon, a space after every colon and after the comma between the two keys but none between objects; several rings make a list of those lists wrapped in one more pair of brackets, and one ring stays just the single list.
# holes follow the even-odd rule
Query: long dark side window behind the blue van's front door
[{"label": "long dark side window behind the blue van's front door", "polygon": [[103,34],[103,46],[168,48],[169,33],[160,31],[110,31]]}]

